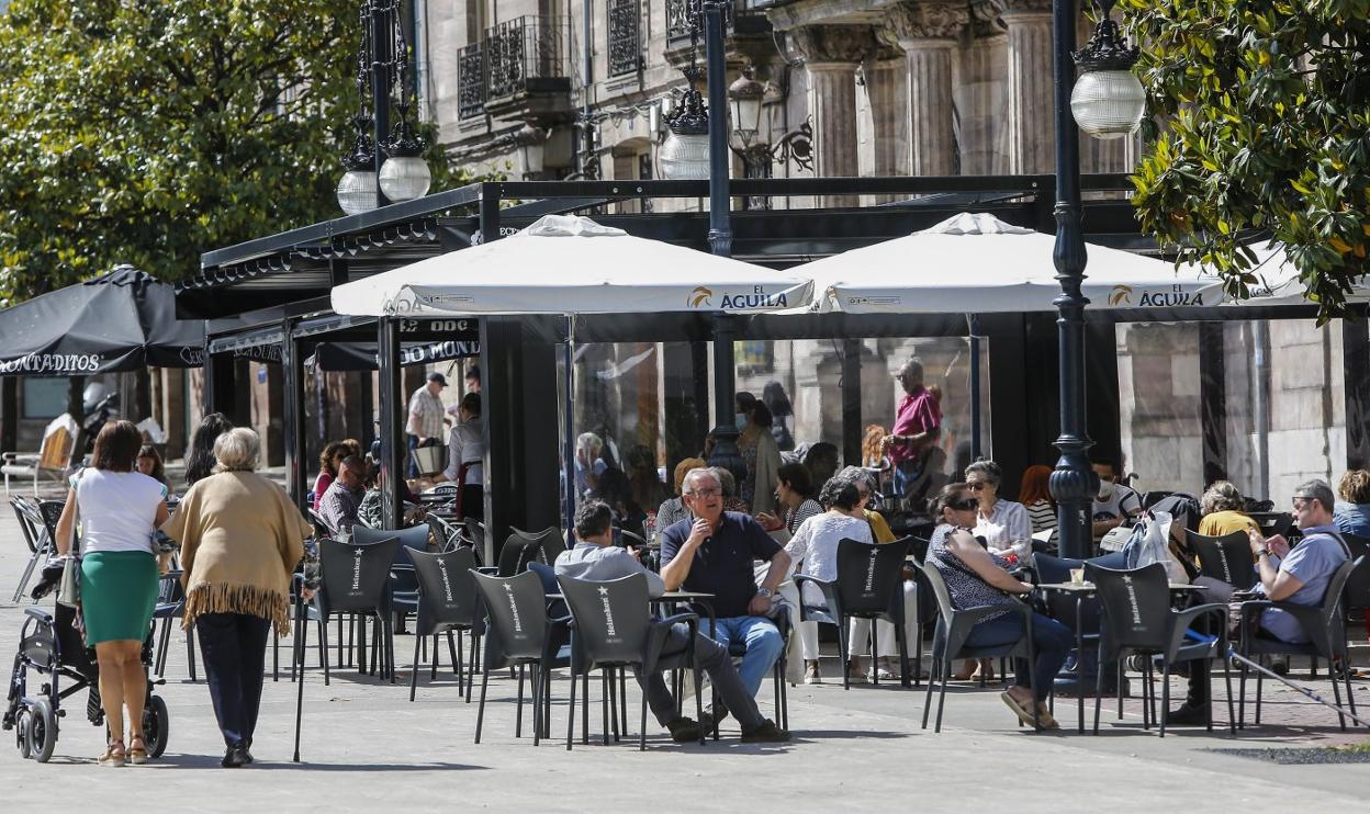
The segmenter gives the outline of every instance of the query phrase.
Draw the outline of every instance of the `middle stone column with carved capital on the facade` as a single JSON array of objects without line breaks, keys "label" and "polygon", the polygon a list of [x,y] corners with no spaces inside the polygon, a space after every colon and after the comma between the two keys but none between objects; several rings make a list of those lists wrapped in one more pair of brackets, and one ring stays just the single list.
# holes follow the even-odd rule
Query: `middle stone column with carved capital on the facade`
[{"label": "middle stone column with carved capital on the facade", "polygon": [[911,175],[952,175],[956,137],[952,49],[970,22],[964,4],[922,1],[891,7],[885,25],[904,51],[908,77],[908,168]]}]

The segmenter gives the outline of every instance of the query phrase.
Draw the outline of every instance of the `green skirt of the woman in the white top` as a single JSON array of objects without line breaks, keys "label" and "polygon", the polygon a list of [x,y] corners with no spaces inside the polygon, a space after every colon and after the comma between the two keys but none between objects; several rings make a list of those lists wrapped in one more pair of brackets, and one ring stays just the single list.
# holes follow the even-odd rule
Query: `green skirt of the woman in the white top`
[{"label": "green skirt of the woman in the white top", "polygon": [[145,551],[81,555],[81,616],[86,644],[142,642],[158,602],[158,561]]}]

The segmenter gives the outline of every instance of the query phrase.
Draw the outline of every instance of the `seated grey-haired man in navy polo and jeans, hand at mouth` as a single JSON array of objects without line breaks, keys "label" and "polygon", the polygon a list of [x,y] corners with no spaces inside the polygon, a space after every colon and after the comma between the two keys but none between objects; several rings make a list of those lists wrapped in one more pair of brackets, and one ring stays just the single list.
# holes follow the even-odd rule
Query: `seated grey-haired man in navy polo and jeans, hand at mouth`
[{"label": "seated grey-haired man in navy polo and jeans, hand at mouth", "polygon": [[[718,629],[710,635],[725,647],[729,642],[747,644],[738,673],[755,696],[785,644],[767,614],[789,554],[749,516],[723,512],[723,488],[711,469],[690,469],[681,486],[690,516],[662,531],[662,580],[667,591],[714,595]],[[770,561],[760,588],[755,560]],[[700,621],[707,629],[708,621]]]}]

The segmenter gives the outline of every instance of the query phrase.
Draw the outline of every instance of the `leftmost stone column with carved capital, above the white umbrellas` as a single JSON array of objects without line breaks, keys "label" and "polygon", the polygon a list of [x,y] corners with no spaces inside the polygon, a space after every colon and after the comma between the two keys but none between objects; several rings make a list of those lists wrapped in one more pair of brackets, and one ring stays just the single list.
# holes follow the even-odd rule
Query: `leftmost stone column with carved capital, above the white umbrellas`
[{"label": "leftmost stone column with carved capital, above the white umbrellas", "polygon": [[[855,176],[856,68],[874,48],[867,26],[803,26],[789,31],[808,71],[808,112],[814,118],[814,172]],[[856,207],[859,196],[823,196],[823,207]]]}]

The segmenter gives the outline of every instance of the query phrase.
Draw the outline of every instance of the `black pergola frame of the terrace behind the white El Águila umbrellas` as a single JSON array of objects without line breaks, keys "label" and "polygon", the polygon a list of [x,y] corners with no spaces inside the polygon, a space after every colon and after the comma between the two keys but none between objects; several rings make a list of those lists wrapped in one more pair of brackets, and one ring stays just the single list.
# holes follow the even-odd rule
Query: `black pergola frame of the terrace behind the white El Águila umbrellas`
[{"label": "black pergola frame of the terrace behind the white El \u00c1guila umbrellas", "polygon": [[[1159,248],[1137,231],[1133,209],[1128,202],[1130,183],[1125,175],[1085,175],[1082,187],[1086,193],[1084,205],[1085,239],[1133,252],[1162,254]],[[178,309],[184,316],[206,317],[206,332],[210,337],[210,365],[214,365],[218,347],[215,342],[221,332],[237,330],[247,323],[274,323],[279,331],[282,347],[292,346],[293,354],[300,354],[299,341],[301,326],[310,320],[341,320],[330,323],[345,327],[321,327],[319,332],[334,332],[349,337],[347,331],[374,331],[379,350],[381,382],[381,436],[385,454],[382,468],[397,472],[403,462],[403,413],[404,394],[400,391],[400,349],[401,330],[415,330],[421,320],[358,320],[338,317],[329,312],[327,293],[333,286],[373,274],[379,274],[432,257],[449,250],[462,249],[484,239],[499,239],[532,223],[545,213],[592,212],[596,220],[625,228],[630,234],[663,239],[667,242],[708,249],[707,213],[704,212],[645,212],[645,213],[604,213],[604,208],[619,202],[651,200],[706,198],[708,185],[704,181],[575,181],[575,182],[484,182],[460,189],[430,194],[425,198],[393,204],[371,212],[338,218],[303,228],[249,241],[207,252],[201,257],[201,271],[195,278],[178,285]],[[907,235],[918,228],[932,226],[945,218],[967,211],[988,211],[997,218],[1036,228],[1044,233],[1055,230],[1052,205],[1055,200],[1054,175],[1017,176],[897,176],[897,178],[810,178],[810,179],[734,179],[732,194],[737,198],[822,198],[823,196],[881,196],[903,197],[904,200],[877,207],[856,208],[796,208],[796,209],[752,209],[732,212],[734,230],[733,256],[773,267],[788,267],[797,263],[834,254],[847,249],[871,245],[884,239]],[[645,272],[647,270],[644,270]],[[844,342],[852,350],[862,337],[910,337],[910,335],[956,335],[964,337],[969,315],[803,315],[803,316],[758,316],[749,319],[718,320],[708,315],[651,315],[641,319],[614,317],[577,320],[578,342],[629,342],[629,341],[688,341],[695,342],[696,368],[701,367],[704,341],[730,342],[745,338],[832,338]],[[1163,311],[1163,309],[1114,309],[1086,311],[1092,330],[1111,335],[1112,326],[1123,321],[1199,321],[1218,323],[1229,319],[1308,319],[1314,316],[1311,306],[1269,306],[1232,308],[1212,306],[1207,309]],[[486,490],[486,518],[490,531],[499,535],[510,525],[536,528],[556,523],[556,469],[555,456],[551,465],[540,460],[538,451],[555,450],[556,408],[545,401],[529,399],[537,393],[537,383],[545,386],[555,376],[552,347],[563,339],[560,320],[543,317],[481,317],[480,345],[481,368],[485,383],[482,395],[486,399],[485,421],[488,435],[486,476],[490,488]],[[992,416],[1015,424],[1011,431],[995,432],[996,456],[1028,461],[1033,457],[1033,446],[1047,446],[1055,431],[1055,406],[1052,397],[1023,409],[1022,386],[1025,354],[1054,352],[1054,315],[980,315],[978,335],[991,339],[1012,339],[992,342],[992,375],[996,369],[1008,376],[1006,383],[1019,386],[1015,394],[1006,387],[992,387]],[[322,321],[318,324],[323,324]],[[364,326],[364,327],[363,327]],[[304,328],[308,332],[312,328]],[[1044,346],[1045,332],[1052,342]],[[1370,339],[1365,326],[1345,330],[1348,371],[1352,364],[1370,361]],[[290,342],[285,342],[285,337]],[[316,334],[308,334],[316,335]],[[360,337],[358,337],[360,338]],[[1211,338],[1211,335],[1210,335]],[[1221,345],[1219,345],[1221,347]],[[282,358],[290,353],[282,353]],[[848,363],[859,354],[847,353]],[[996,358],[997,357],[997,358]],[[300,358],[303,363],[303,357]],[[1201,353],[1201,363],[1210,368],[1221,365],[1221,352],[1211,349]],[[844,363],[848,364],[848,363]],[[1003,364],[1000,364],[1003,363]],[[1091,375],[1107,384],[1112,376],[1111,393],[1107,386],[1099,389],[1097,405],[1092,395],[1091,413],[1117,416],[1117,365],[1115,360],[1092,360]],[[295,383],[288,383],[286,413],[286,461],[290,472],[292,491],[303,499],[303,456],[299,451],[303,439],[303,390],[299,390],[300,371],[288,365],[288,382],[295,373]],[[1054,376],[1055,363],[1041,365]],[[851,373],[852,371],[845,371]],[[859,373],[859,369],[855,371]],[[210,390],[214,382],[210,376]],[[1221,376],[1219,376],[1221,379]],[[859,375],[844,375],[844,380],[859,382]],[[854,387],[859,387],[855,384]],[[696,369],[695,390],[697,405],[708,404],[707,375]],[[1045,390],[1054,390],[1044,387]],[[299,395],[295,394],[299,391]],[[849,398],[855,395],[855,398]],[[1110,395],[1112,404],[1108,402]],[[1219,394],[1219,399],[1222,394]],[[1347,376],[1347,428],[1348,464],[1370,462],[1370,441],[1367,441],[1366,415],[1370,410],[1370,378]],[[214,404],[210,398],[208,404]],[[844,446],[848,453],[859,449],[859,390],[844,393],[844,405],[849,425]],[[858,417],[849,420],[855,405]],[[1096,410],[1095,408],[1099,406]],[[707,430],[707,406],[696,416],[700,432]],[[1014,412],[1026,416],[1010,420]],[[1217,419],[1204,415],[1206,456],[1208,450],[1226,449],[1225,427],[1221,413]],[[548,431],[548,424],[549,431]],[[293,431],[292,431],[293,428]],[[1107,425],[1096,425],[1096,438],[1108,438]],[[1111,430],[1117,435],[1117,427]],[[544,438],[545,436],[545,438]],[[1210,438],[1212,436],[1212,438]],[[1222,436],[1222,438],[1219,438]],[[1008,439],[1015,439],[1008,442]],[[1026,441],[1032,438],[1033,441]],[[1000,456],[1000,441],[1015,446],[1010,454]],[[545,469],[545,471],[544,471]],[[397,479],[388,477],[389,484]],[[548,486],[549,484],[549,486]],[[386,495],[386,518],[393,523],[399,505],[393,488]],[[493,536],[492,535],[492,536]]]}]

